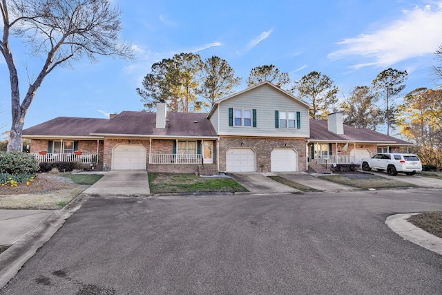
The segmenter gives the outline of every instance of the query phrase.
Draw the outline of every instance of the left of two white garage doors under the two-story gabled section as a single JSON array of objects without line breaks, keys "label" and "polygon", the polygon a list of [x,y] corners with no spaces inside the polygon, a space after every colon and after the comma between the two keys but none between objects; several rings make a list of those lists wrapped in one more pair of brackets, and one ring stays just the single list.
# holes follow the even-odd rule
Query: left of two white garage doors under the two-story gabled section
[{"label": "left of two white garage doors under the two-story gabled section", "polygon": [[229,149],[226,154],[227,172],[255,172],[256,155],[252,149]]}]

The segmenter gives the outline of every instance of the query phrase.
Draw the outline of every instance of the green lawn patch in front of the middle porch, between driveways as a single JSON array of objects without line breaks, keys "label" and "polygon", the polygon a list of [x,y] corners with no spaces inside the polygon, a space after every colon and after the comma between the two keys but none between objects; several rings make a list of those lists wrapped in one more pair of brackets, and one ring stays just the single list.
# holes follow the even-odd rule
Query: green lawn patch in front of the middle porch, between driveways
[{"label": "green lawn patch in front of the middle porch, between driveways", "polygon": [[247,191],[231,178],[205,178],[191,173],[148,173],[151,193],[235,193]]}]

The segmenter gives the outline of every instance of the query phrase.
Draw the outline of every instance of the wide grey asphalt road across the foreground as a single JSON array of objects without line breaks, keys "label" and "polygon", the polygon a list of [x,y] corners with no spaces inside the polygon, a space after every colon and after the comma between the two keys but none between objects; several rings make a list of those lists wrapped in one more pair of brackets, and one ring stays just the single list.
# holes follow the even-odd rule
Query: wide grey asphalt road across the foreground
[{"label": "wide grey asphalt road across the foreground", "polygon": [[442,191],[90,198],[0,294],[441,294],[385,225]]}]

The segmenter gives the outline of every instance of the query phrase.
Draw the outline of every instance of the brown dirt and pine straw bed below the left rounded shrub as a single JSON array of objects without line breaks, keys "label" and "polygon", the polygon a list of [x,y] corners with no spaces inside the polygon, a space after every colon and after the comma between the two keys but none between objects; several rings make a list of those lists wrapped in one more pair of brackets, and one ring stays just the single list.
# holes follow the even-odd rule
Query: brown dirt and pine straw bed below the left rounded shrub
[{"label": "brown dirt and pine straw bed below the left rounded shrub", "polygon": [[28,193],[48,193],[50,191],[58,191],[61,189],[74,189],[79,187],[68,178],[46,173],[37,174],[37,176],[29,182],[29,185],[19,184],[17,187],[8,185],[0,186],[0,196],[4,195],[21,195]]}]

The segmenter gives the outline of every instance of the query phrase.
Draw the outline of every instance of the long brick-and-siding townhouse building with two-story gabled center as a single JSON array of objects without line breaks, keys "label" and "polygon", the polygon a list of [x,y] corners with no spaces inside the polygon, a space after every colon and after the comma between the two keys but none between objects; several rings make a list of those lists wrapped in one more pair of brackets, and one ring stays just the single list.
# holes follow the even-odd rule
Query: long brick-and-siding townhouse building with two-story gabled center
[{"label": "long brick-and-siding townhouse building with two-story gabled center", "polygon": [[309,120],[311,106],[269,82],[216,102],[208,114],[124,111],[109,119],[57,117],[23,130],[40,162],[155,172],[307,171],[351,163],[409,142],[342,122]]}]

